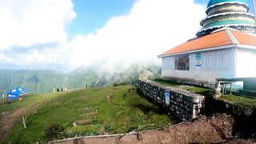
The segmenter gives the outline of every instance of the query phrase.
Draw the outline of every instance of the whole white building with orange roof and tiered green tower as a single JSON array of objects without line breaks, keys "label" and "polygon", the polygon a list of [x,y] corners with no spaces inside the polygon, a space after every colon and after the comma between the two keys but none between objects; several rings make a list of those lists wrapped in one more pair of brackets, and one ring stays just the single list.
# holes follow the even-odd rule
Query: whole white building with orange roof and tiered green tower
[{"label": "whole white building with orange roof and tiered green tower", "polygon": [[216,78],[256,77],[255,21],[248,10],[246,0],[210,0],[197,37],[158,55],[162,77],[206,86]]}]

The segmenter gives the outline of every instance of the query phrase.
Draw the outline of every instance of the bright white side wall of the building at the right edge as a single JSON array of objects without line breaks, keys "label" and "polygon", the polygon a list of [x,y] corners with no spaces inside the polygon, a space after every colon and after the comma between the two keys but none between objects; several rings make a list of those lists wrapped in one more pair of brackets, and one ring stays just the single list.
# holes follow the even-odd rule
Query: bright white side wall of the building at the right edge
[{"label": "bright white side wall of the building at the right edge", "polygon": [[236,57],[236,78],[256,77],[256,50],[238,49]]}]

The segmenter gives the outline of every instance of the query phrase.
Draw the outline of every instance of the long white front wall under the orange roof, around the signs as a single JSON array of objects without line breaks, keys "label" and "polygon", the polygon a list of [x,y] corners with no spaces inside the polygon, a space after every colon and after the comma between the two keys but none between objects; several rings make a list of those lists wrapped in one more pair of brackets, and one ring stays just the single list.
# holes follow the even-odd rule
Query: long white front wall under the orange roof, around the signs
[{"label": "long white front wall under the orange roof, around the signs", "polygon": [[211,84],[215,83],[215,78],[234,78],[234,52],[234,48],[200,52],[201,66],[196,66],[198,53],[191,53],[190,70],[175,70],[175,57],[178,55],[162,58],[162,77],[190,78]]}]

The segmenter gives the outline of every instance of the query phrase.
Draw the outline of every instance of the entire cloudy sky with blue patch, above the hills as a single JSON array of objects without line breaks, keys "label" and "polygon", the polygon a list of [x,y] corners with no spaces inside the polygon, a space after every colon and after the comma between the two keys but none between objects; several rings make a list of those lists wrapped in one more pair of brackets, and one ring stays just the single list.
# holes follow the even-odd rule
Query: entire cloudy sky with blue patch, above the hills
[{"label": "entire cloudy sky with blue patch, above the hills", "polygon": [[206,0],[0,0],[0,69],[138,62],[193,38]]}]

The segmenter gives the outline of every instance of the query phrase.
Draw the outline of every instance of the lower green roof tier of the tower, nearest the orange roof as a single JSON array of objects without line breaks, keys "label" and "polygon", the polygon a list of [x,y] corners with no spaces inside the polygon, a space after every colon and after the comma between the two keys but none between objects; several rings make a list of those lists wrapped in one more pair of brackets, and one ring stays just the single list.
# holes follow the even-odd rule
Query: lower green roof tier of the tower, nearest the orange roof
[{"label": "lower green roof tier of the tower, nearest the orange roof", "polygon": [[218,21],[218,22],[212,22],[206,26],[204,26],[202,29],[214,27],[214,26],[230,26],[230,25],[254,25],[254,22],[245,21],[245,20],[225,20],[225,21]]}]

